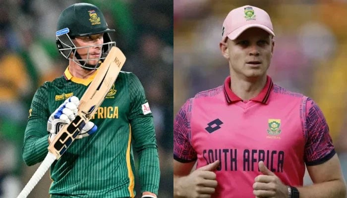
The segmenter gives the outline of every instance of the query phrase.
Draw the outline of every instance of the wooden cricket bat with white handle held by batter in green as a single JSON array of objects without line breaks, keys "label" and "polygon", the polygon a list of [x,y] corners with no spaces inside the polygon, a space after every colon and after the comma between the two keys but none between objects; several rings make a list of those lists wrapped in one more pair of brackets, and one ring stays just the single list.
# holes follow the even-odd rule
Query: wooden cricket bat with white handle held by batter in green
[{"label": "wooden cricket bat with white handle held by batter in green", "polygon": [[117,47],[111,48],[104,62],[100,65],[95,78],[80,99],[76,118],[69,124],[63,125],[59,130],[55,139],[48,146],[47,156],[17,198],[26,198],[51,167],[52,163],[58,160],[76,139],[84,125],[104,101],[107,93],[115,83],[125,59],[120,49]]}]

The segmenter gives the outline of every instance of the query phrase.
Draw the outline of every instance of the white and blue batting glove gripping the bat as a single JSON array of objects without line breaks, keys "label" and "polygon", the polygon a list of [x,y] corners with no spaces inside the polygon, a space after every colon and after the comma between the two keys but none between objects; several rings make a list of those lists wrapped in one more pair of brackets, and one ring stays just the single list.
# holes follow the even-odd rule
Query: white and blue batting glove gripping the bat
[{"label": "white and blue batting glove gripping the bat", "polygon": [[[50,142],[54,140],[57,133],[64,124],[70,123],[75,119],[78,112],[79,99],[72,96],[66,99],[49,117],[47,122],[47,131],[51,133],[49,139]],[[93,122],[87,122],[83,127],[81,133],[86,134],[82,137],[89,136],[95,133],[97,130],[96,125]]]}]

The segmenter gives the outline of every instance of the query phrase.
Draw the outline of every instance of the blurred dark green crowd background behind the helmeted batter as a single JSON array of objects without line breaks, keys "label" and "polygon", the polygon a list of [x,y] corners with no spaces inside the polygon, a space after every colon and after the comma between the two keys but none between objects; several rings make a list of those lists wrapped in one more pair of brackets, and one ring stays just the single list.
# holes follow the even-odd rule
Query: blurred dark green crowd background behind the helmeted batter
[{"label": "blurred dark green crowd background behind the helmeted batter", "polygon": [[[127,57],[122,70],[139,77],[154,114],[159,196],[172,197],[173,0],[0,0],[0,198],[15,198],[39,165],[27,167],[21,157],[28,110],[36,89],[67,66],[56,24],[76,2],[97,5],[116,29],[111,36]],[[49,197],[50,184],[47,172],[29,198]]]}]

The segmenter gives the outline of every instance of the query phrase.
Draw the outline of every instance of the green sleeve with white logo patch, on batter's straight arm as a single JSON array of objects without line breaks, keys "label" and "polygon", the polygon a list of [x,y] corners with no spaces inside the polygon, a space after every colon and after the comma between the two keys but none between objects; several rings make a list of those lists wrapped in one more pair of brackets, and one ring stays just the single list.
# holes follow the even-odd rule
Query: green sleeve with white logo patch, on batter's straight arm
[{"label": "green sleeve with white logo patch, on batter's straight arm", "polygon": [[158,195],[160,167],[158,147],[154,130],[153,115],[145,91],[139,79],[128,73],[132,147],[139,154],[139,178],[141,192],[152,192]]}]

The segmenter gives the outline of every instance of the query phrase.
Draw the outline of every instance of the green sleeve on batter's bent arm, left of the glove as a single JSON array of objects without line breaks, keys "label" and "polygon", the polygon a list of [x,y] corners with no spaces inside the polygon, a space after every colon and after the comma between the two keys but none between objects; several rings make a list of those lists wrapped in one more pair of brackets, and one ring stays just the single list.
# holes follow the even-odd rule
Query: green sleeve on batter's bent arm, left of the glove
[{"label": "green sleeve on batter's bent arm, left of the glove", "polygon": [[31,102],[22,148],[23,159],[28,166],[43,161],[48,153],[47,99],[47,85],[43,85],[36,91]]}]

